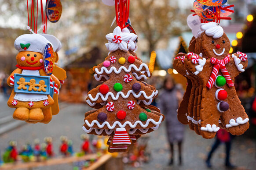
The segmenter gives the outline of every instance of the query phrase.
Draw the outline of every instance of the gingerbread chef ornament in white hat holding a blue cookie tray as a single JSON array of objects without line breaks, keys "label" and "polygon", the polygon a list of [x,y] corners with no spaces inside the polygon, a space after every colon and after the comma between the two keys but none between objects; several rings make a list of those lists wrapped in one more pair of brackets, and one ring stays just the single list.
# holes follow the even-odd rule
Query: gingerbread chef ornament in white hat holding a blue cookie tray
[{"label": "gingerbread chef ornament in white hat holding a blue cookie tray", "polygon": [[16,56],[17,69],[7,79],[7,84],[14,86],[7,102],[9,107],[16,108],[13,118],[33,123],[50,115],[48,121],[42,122],[48,123],[51,120],[50,106],[54,104],[51,96],[58,92],[53,89],[53,78],[44,69],[45,49],[47,46],[50,48],[51,43],[42,35],[33,33],[19,36],[14,45],[19,52]]}]

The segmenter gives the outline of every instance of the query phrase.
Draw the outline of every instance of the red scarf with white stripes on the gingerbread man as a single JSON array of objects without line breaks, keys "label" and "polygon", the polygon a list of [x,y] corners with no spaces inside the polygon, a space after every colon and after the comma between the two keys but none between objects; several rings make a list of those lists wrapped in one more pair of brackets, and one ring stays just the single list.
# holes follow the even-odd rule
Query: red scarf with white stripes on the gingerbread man
[{"label": "red scarf with white stripes on the gingerbread man", "polygon": [[212,69],[211,77],[206,85],[209,89],[212,89],[214,82],[216,81],[217,75],[219,73],[219,69],[223,75],[223,77],[226,79],[227,85],[229,87],[234,86],[234,83],[232,82],[229,73],[227,72],[227,68],[225,67],[226,64],[230,62],[230,55],[228,54],[227,57],[225,57],[223,60],[218,60],[214,57],[211,58],[211,63],[214,64]]}]

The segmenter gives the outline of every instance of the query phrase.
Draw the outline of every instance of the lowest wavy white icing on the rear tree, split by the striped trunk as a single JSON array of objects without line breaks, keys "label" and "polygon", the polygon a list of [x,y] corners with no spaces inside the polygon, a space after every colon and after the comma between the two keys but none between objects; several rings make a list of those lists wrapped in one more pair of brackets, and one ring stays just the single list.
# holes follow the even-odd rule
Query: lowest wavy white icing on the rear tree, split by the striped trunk
[{"label": "lowest wavy white icing on the rear tree, split by the striped trunk", "polygon": [[[155,127],[150,127],[150,128],[153,129],[153,130],[157,130],[158,127],[159,127],[159,124],[156,125]],[[85,131],[85,133],[90,133],[92,130],[94,130],[97,135],[101,135],[103,131],[105,131],[107,135],[110,135],[110,134],[113,133],[113,130],[110,130],[110,129],[96,129],[96,128],[90,127],[90,128],[87,130],[84,126],[83,126],[82,128],[83,128],[83,130]],[[147,133],[150,128],[146,128],[146,129],[132,129],[132,131],[131,131],[131,130],[129,131],[129,134],[132,135],[132,134],[134,134],[135,131],[137,131],[137,130],[141,131],[142,133]]]}]

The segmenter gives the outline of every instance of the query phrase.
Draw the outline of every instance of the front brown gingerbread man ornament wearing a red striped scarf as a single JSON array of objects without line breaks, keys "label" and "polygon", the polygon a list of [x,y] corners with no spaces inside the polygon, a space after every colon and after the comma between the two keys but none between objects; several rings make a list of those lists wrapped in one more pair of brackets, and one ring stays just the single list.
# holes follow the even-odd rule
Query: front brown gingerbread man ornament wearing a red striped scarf
[{"label": "front brown gingerbread man ornament wearing a red striped scarf", "polygon": [[[245,71],[247,55],[229,54],[230,40],[215,22],[200,25],[201,54],[186,55],[185,68],[202,81],[201,135],[213,138],[220,125],[232,135],[249,128],[249,118],[234,88],[234,78]],[[222,126],[221,126],[222,127]]]}]

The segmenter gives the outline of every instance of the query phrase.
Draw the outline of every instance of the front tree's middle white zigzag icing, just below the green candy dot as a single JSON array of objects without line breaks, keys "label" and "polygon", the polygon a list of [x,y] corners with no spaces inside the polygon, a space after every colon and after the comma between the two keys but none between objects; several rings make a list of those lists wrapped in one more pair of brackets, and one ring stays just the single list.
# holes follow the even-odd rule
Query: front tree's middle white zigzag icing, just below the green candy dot
[{"label": "front tree's middle white zigzag icing, just below the green candy dot", "polygon": [[111,96],[111,98],[112,98],[113,100],[119,99],[119,96],[120,96],[120,95],[121,95],[124,99],[127,99],[127,98],[130,96],[131,93],[132,93],[132,95],[133,95],[135,98],[139,98],[139,97],[141,96],[141,94],[143,94],[143,96],[144,96],[146,99],[151,99],[151,98],[153,98],[154,96],[156,96],[156,95],[158,94],[158,91],[156,90],[156,92],[153,92],[150,96],[146,96],[146,92],[144,92],[144,91],[140,91],[139,94],[137,95],[133,90],[129,90],[126,95],[124,95],[123,92],[117,92],[117,96],[114,96],[114,94],[113,94],[112,92],[108,92],[108,93],[106,93],[106,96],[105,96],[105,97],[103,96],[102,93],[97,93],[96,96],[95,96],[95,98],[93,98],[93,97],[91,96],[91,94],[88,94],[88,97],[89,97],[90,100],[93,101],[93,102],[95,102],[96,100],[98,100],[98,99],[99,99],[99,96],[101,97],[101,99],[102,99],[103,101],[107,101],[107,99],[108,99],[109,96]]}]

